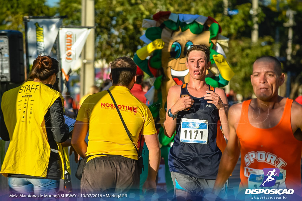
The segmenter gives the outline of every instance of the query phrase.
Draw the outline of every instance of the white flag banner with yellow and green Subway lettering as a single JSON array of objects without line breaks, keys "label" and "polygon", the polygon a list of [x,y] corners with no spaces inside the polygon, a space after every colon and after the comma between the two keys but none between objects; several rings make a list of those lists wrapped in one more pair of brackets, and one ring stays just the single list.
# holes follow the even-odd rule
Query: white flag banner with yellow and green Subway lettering
[{"label": "white flag banner with yellow and green Subway lettering", "polygon": [[25,23],[27,56],[29,65],[32,65],[40,53],[42,55],[50,54],[56,41],[59,27],[62,25],[62,18],[30,18]]}]

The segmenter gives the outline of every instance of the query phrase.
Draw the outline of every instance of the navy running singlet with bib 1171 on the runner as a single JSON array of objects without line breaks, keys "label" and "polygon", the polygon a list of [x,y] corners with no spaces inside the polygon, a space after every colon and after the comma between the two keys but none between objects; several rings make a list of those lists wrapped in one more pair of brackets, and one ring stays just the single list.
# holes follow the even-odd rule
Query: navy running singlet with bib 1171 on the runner
[{"label": "navy running singlet with bib 1171 on the runner", "polygon": [[[188,94],[188,83],[181,94]],[[215,92],[215,88],[209,86]],[[201,179],[216,179],[222,152],[217,147],[219,110],[204,97],[196,98],[189,110],[177,113],[176,136],[169,152],[169,169]],[[220,129],[220,128],[218,128]]]}]

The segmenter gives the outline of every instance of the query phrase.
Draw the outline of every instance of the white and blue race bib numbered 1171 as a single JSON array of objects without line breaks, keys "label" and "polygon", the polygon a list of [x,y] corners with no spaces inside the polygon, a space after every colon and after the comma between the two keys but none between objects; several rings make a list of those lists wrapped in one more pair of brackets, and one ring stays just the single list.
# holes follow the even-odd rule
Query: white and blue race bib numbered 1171
[{"label": "white and blue race bib numbered 1171", "polygon": [[207,120],[182,118],[180,129],[180,141],[185,143],[207,144]]}]

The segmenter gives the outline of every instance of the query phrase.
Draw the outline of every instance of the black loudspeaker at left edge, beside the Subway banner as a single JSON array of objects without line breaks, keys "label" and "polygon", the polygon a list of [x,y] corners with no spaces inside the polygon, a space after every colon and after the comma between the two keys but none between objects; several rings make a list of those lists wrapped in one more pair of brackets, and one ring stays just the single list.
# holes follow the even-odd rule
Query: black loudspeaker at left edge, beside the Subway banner
[{"label": "black loudspeaker at left edge, beside the Subway banner", "polygon": [[23,35],[16,30],[0,30],[0,81],[24,82]]}]

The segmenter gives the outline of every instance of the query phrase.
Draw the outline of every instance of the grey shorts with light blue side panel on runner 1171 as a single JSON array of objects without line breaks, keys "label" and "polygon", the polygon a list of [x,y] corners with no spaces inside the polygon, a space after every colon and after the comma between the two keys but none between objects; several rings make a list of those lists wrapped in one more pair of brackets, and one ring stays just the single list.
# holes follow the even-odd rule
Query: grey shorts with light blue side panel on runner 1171
[{"label": "grey shorts with light blue side panel on runner 1171", "polygon": [[[176,190],[183,190],[196,196],[212,193],[216,181],[215,179],[200,179],[177,172],[171,172],[171,177],[174,184],[174,194]],[[226,182],[225,188],[227,185],[228,182]]]}]

